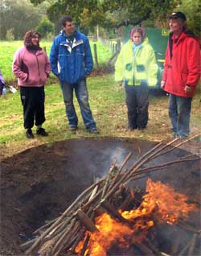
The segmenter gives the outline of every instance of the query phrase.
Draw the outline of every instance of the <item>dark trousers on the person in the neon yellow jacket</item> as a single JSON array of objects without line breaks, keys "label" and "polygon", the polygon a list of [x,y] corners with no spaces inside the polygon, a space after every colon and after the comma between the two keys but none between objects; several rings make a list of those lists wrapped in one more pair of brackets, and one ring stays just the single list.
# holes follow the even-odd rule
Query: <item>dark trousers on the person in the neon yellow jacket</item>
[{"label": "dark trousers on the person in the neon yellow jacket", "polygon": [[149,114],[147,85],[125,85],[125,103],[128,109],[129,129],[146,128]]}]

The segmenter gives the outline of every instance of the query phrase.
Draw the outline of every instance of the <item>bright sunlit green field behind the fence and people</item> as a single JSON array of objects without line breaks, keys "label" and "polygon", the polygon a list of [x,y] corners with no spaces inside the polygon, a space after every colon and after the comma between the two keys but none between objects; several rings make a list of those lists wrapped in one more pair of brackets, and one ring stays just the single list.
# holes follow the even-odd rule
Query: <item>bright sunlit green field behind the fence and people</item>
[{"label": "bright sunlit green field behind the fence and people", "polygon": [[[41,40],[40,46],[46,47],[47,56],[49,56],[50,50],[51,50],[51,43]],[[109,52],[109,49],[107,47],[104,47],[99,42],[91,42],[91,49],[92,49],[92,56],[94,56],[93,51],[93,44],[96,43],[96,49],[97,49],[97,56],[98,56],[98,62],[100,65],[105,64],[107,60],[109,60],[110,56],[112,55],[111,52]],[[2,75],[4,77],[4,80],[9,83],[9,81],[14,81],[14,75],[12,73],[12,61],[14,57],[14,52],[19,47],[23,46],[23,41],[0,41],[0,52],[1,52],[1,58],[0,58],[0,69],[2,72]]]}]

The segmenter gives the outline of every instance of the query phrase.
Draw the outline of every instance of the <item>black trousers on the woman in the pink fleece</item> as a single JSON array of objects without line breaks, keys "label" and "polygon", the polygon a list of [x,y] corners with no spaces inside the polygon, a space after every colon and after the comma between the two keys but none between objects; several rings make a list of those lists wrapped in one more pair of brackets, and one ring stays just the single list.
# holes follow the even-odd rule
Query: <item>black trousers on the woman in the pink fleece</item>
[{"label": "black trousers on the woman in the pink fleece", "polygon": [[23,104],[24,128],[40,126],[45,122],[45,92],[42,87],[20,86],[20,97]]}]

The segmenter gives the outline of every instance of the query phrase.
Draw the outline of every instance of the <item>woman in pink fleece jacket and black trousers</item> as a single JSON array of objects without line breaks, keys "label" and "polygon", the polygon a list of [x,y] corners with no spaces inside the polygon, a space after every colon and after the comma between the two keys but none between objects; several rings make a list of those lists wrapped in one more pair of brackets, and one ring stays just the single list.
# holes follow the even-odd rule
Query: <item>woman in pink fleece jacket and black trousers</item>
[{"label": "woman in pink fleece jacket and black trousers", "polygon": [[34,138],[31,128],[37,126],[36,134],[47,136],[42,128],[45,122],[44,85],[51,72],[47,54],[39,47],[40,35],[30,30],[24,36],[24,46],[14,55],[13,72],[18,78],[23,104],[24,128],[27,138]]}]

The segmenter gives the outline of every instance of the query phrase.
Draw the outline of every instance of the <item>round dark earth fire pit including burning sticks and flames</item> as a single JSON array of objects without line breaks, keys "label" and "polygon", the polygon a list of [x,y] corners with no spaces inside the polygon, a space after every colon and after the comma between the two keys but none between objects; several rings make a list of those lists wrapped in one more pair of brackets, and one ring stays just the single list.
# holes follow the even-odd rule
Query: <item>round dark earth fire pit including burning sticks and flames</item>
[{"label": "round dark earth fire pit including burning sticks and flames", "polygon": [[[63,143],[62,147],[59,143]],[[20,233],[21,237],[16,237],[15,254],[199,255],[200,159],[187,151],[175,148],[180,144],[179,140],[165,145],[139,140],[109,141],[107,138],[90,139],[86,142],[72,141],[72,144],[57,142],[55,145],[40,147],[35,151],[35,154],[38,153],[38,161],[41,152],[48,152],[50,156],[47,163],[43,162],[42,170],[46,171],[47,166],[51,168],[53,162],[57,164],[57,169],[51,170],[51,189],[48,191],[51,193],[51,199],[43,194],[47,193],[47,190],[44,184],[41,185],[44,180],[50,179],[49,172],[43,173],[43,181],[33,179],[29,192],[15,195],[17,200],[18,196],[21,200],[18,205],[19,215],[22,214],[22,199],[36,200],[39,196],[34,194],[34,188],[39,188],[39,184],[42,187],[40,196],[45,200],[40,201],[45,212],[43,220],[35,221],[35,225],[27,230],[16,225],[20,230],[15,230],[15,233]],[[86,154],[86,151],[92,154]],[[26,151],[23,156],[29,153],[30,151]],[[20,157],[15,156],[15,159],[12,159],[13,165]],[[72,162],[69,163],[71,157],[73,160],[80,159],[73,161],[75,169],[72,168]],[[63,169],[61,163],[65,163]],[[6,159],[3,163],[5,175],[9,165],[10,159]],[[66,180],[55,185],[52,180],[58,182],[57,172],[60,172],[60,175],[62,173],[60,179],[65,176]],[[17,175],[15,171],[14,175]],[[2,184],[5,198],[8,199],[10,187],[6,186],[6,183]],[[18,191],[14,182],[11,184],[12,192]],[[20,188],[20,184],[18,187]],[[64,192],[64,188],[67,191]],[[61,205],[55,203],[53,196],[58,189],[59,196],[63,197],[56,199]],[[71,195],[69,192],[72,192]],[[51,203],[48,200],[51,200]],[[24,203],[24,209],[31,204]],[[4,204],[6,206],[5,202]],[[49,204],[52,204],[51,209],[48,209]],[[31,211],[34,211],[33,206]],[[35,209],[38,214],[41,214],[40,208]],[[44,225],[46,220],[49,221]],[[34,223],[34,220],[25,222]],[[3,227],[5,228],[5,223]],[[7,229],[10,231],[8,227]],[[4,237],[4,240],[6,239],[8,237]]]}]

